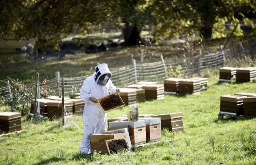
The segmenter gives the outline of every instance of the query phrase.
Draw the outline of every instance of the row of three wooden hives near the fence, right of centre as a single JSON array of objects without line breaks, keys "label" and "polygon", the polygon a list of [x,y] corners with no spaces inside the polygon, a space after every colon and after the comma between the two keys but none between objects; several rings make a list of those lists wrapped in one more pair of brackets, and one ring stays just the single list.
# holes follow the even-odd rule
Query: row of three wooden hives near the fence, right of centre
[{"label": "row of three wooden hives near the fence, right of centre", "polygon": [[199,94],[208,89],[207,83],[207,78],[169,78],[164,81],[163,85],[166,94]]}]

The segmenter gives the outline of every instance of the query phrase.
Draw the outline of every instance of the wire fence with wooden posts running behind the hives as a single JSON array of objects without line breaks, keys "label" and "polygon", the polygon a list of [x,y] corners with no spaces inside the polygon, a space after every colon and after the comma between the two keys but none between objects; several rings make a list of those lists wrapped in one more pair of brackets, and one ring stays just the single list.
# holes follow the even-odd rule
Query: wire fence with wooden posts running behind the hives
[{"label": "wire fence with wooden posts running behind the hives", "polygon": [[[231,51],[230,51],[231,50]],[[200,75],[201,71],[209,67],[219,67],[225,64],[229,57],[237,57],[243,55],[256,54],[256,42],[252,39],[251,42],[240,43],[239,46],[229,43],[228,49],[218,50],[213,53],[203,55],[200,51],[197,54],[183,57],[181,54],[172,60],[163,60],[161,56],[158,62],[153,63],[136,63],[112,70],[111,80],[117,87],[125,87],[139,81],[157,81],[163,82],[169,73],[173,72],[178,66],[181,67],[180,73],[183,76],[191,76],[194,73]],[[64,78],[65,97],[79,92],[84,80],[91,75],[82,77],[66,77]],[[45,98],[48,96],[61,96],[61,77],[56,77],[39,83],[40,96]],[[34,87],[35,84],[28,84],[28,87]],[[0,88],[1,99],[10,97],[10,87]],[[0,100],[1,100],[0,99]]]}]

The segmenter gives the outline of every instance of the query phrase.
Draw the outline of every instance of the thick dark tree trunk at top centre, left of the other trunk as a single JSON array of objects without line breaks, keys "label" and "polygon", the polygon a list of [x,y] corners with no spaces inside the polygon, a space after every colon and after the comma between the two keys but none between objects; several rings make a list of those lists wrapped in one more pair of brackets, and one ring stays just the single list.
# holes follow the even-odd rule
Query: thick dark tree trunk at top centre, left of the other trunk
[{"label": "thick dark tree trunk at top centre, left of the other trunk", "polygon": [[125,23],[125,29],[123,30],[124,39],[125,39],[125,46],[138,46],[140,44],[140,30],[136,23],[131,27],[129,23]]}]

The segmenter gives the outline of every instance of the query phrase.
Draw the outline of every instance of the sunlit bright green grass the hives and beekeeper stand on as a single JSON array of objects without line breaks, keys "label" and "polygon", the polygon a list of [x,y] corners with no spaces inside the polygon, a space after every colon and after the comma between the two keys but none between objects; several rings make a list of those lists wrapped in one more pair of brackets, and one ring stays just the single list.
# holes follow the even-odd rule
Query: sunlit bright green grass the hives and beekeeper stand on
[{"label": "sunlit bright green grass the hives and beekeeper stand on", "polygon": [[[165,96],[139,104],[141,114],[183,112],[185,132],[162,130],[159,144],[118,155],[85,156],[77,151],[83,135],[82,117],[70,119],[68,123],[79,128],[69,129],[59,128],[58,121],[23,119],[22,133],[0,137],[0,164],[256,164],[256,119],[217,119],[222,95],[256,93],[255,83],[217,82],[218,75],[211,77],[208,91],[200,95]],[[123,116],[128,110],[112,111],[108,118]]]}]

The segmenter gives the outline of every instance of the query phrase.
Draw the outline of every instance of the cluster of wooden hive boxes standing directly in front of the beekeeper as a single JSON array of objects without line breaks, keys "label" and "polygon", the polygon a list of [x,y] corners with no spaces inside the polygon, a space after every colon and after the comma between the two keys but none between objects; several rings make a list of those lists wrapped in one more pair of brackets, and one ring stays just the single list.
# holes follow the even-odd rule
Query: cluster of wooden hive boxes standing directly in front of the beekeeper
[{"label": "cluster of wooden hive boxes standing directly in front of the beekeeper", "polygon": [[161,130],[184,132],[182,113],[152,115],[139,114],[138,121],[128,121],[126,116],[108,119],[108,131],[90,135],[91,152],[108,153],[106,141],[125,138],[128,146],[159,142]]}]

